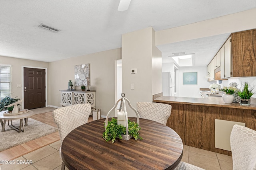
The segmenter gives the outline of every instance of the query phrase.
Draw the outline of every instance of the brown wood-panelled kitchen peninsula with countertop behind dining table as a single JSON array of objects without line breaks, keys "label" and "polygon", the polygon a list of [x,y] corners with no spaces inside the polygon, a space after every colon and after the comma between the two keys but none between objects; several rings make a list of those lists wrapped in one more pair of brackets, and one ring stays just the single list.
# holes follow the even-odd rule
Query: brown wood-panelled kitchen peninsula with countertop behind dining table
[{"label": "brown wood-panelled kitchen peninsula with countertop behind dining table", "polygon": [[232,156],[228,150],[215,148],[215,119],[243,122],[256,130],[256,99],[250,106],[225,104],[221,97],[186,98],[157,94],[153,102],[172,105],[167,126],[180,135],[183,144]]}]

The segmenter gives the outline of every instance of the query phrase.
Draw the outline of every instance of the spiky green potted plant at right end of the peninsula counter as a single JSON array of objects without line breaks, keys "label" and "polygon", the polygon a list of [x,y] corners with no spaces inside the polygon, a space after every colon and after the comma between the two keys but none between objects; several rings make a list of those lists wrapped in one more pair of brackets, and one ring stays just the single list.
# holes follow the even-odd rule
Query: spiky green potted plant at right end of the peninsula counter
[{"label": "spiky green potted plant at right end of the peninsula counter", "polygon": [[240,105],[249,106],[251,104],[251,97],[254,94],[254,87],[250,87],[248,82],[244,82],[244,87],[241,92],[238,92],[238,96],[240,96]]}]

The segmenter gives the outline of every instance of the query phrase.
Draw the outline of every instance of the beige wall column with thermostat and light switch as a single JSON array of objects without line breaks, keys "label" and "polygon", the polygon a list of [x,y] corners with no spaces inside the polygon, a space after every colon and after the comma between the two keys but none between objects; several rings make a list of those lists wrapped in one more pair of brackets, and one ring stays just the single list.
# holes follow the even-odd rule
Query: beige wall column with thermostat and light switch
[{"label": "beige wall column with thermostat and light switch", "polygon": [[[122,35],[122,90],[135,108],[137,102],[152,102],[152,94],[162,92],[162,58],[153,31],[148,27]],[[131,74],[132,68],[137,74]],[[135,116],[130,107],[128,116]]]}]

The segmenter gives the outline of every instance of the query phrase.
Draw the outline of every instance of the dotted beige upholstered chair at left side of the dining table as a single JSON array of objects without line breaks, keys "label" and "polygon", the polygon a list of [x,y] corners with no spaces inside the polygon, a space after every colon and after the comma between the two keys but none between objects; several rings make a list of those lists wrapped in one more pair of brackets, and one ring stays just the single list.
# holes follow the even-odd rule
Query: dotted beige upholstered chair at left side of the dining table
[{"label": "dotted beige upholstered chair at left side of the dining table", "polygon": [[[90,104],[76,104],[72,106],[60,107],[52,111],[54,122],[58,126],[58,131],[60,133],[60,146],[62,145],[62,142],[64,138],[68,135],[68,133],[70,133],[72,130],[76,129],[80,125],[88,122],[90,113]],[[61,169],[65,169],[65,165],[63,162],[61,165]]]}]

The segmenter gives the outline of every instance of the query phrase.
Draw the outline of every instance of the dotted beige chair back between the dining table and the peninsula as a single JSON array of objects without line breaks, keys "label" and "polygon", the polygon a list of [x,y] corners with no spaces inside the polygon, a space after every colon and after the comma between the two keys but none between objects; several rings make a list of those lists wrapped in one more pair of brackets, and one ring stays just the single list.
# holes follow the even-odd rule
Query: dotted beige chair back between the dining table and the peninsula
[{"label": "dotted beige chair back between the dining table and the peninsula", "polygon": [[137,111],[141,118],[166,125],[171,115],[172,106],[153,102],[137,102]]}]

